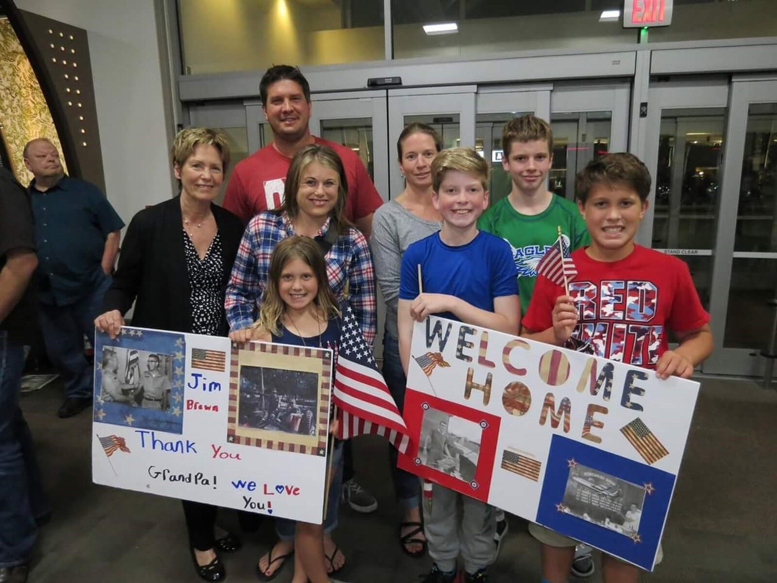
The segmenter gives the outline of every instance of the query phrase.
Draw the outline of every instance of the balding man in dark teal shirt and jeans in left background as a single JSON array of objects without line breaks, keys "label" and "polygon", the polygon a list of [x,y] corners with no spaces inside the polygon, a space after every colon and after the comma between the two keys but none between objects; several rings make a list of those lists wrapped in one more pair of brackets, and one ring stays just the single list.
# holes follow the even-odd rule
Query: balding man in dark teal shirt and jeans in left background
[{"label": "balding man in dark teal shirt and jeans in left background", "polygon": [[92,404],[92,367],[83,337],[94,337],[94,319],[110,288],[119,250],[119,215],[99,188],[64,175],[59,152],[46,138],[24,147],[35,176],[28,191],[38,249],[40,325],[46,351],[63,376],[60,417]]}]

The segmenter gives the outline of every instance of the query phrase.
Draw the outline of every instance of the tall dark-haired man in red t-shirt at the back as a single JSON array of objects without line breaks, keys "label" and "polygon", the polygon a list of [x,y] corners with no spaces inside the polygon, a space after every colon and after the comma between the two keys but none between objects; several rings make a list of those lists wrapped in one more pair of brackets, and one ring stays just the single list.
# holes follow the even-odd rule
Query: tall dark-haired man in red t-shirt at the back
[{"label": "tall dark-haired man in red t-shirt at the back", "polygon": [[270,67],[259,84],[259,93],[274,138],[270,145],[235,166],[227,185],[224,208],[247,223],[253,215],[279,207],[284,201],[284,182],[294,154],[306,145],[324,144],[340,155],[345,166],[348,179],[345,215],[369,239],[372,214],[383,200],[353,150],[310,133],[310,86],[299,68]]}]

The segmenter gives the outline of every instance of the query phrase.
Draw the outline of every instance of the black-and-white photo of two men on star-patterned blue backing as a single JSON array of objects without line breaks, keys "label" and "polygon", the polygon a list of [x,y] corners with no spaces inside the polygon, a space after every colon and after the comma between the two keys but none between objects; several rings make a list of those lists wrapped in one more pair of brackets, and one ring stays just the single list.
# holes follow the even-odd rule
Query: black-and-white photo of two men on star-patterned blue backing
[{"label": "black-and-white photo of two men on star-patterned blue backing", "polygon": [[103,401],[169,409],[172,354],[105,346],[100,359],[103,374],[99,396]]}]

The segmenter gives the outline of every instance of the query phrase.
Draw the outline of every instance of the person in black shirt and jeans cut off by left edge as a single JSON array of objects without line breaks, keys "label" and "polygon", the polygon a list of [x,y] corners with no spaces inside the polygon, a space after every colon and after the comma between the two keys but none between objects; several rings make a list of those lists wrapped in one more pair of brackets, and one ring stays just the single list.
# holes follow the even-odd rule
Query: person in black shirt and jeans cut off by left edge
[{"label": "person in black shirt and jeans cut off by left edge", "polygon": [[0,581],[23,583],[47,511],[30,429],[19,408],[24,344],[36,328],[33,286],[37,267],[30,200],[0,167]]}]

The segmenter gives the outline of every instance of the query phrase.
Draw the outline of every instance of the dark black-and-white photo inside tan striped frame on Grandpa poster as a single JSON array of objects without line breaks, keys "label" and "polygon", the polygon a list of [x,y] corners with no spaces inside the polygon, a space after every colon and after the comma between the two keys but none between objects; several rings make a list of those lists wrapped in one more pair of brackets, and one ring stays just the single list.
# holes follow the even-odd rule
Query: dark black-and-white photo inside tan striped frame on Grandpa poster
[{"label": "dark black-and-white photo inside tan striped frame on Grandpa poster", "polygon": [[315,372],[243,365],[238,423],[242,428],[316,435],[318,398]]}]

